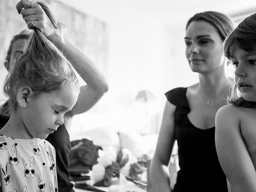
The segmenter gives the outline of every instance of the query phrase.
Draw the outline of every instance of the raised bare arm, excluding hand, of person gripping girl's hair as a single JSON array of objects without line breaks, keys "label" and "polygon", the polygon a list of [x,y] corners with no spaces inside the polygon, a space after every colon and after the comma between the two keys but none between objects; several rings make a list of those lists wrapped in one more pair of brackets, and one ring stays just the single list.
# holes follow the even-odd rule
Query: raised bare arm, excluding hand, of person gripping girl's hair
[{"label": "raised bare arm, excluding hand, of person gripping girl's hair", "polygon": [[66,115],[74,116],[88,111],[98,100],[108,91],[107,82],[98,67],[74,44],[65,39],[62,43],[60,36],[50,38],[55,46],[62,50],[66,58],[74,66],[75,70],[86,82],[86,85],[80,87],[80,94],[75,106]]}]

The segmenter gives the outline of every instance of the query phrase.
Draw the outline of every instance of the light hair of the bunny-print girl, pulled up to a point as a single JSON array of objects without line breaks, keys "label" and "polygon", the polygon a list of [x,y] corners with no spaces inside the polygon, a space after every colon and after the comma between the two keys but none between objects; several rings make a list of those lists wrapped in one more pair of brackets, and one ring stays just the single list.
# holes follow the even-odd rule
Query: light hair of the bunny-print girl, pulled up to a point
[{"label": "light hair of the bunny-print girl, pulled up to a point", "polygon": [[38,29],[33,29],[28,46],[14,63],[4,82],[4,94],[8,104],[1,114],[10,116],[18,108],[17,93],[23,86],[29,86],[35,96],[67,89],[78,90],[79,82],[74,68],[62,53]]}]

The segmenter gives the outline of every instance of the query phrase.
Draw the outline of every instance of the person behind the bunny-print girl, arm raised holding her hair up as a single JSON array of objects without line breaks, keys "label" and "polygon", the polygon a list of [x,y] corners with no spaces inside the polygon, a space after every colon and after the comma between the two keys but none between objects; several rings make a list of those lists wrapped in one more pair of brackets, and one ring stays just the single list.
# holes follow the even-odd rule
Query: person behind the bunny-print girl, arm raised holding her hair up
[{"label": "person behind the bunny-print girl, arm raised holding her hair up", "polygon": [[[68,172],[68,155],[70,153],[68,131],[71,128],[72,117],[92,108],[104,93],[108,91],[108,85],[97,66],[79,48],[72,44],[68,38],[64,37],[62,25],[56,20],[56,16],[48,4],[22,0],[18,2],[16,8],[22,14],[28,28],[32,29],[31,22],[33,21],[33,25],[58,50],[62,51],[63,55],[66,56],[78,74],[86,82],[86,85],[80,87],[80,94],[75,106],[65,114],[64,123],[60,125],[57,131],[46,138],[56,150],[56,165],[53,164],[53,166],[57,166],[58,169],[58,188],[62,192],[73,192],[73,184],[69,181]],[[28,39],[29,34],[22,32],[11,41],[5,62],[5,66],[9,71],[12,68],[13,60],[22,54],[24,43]],[[3,106],[6,106],[6,104]],[[0,125],[4,125],[6,121],[8,121],[8,117],[2,116],[0,118]]]}]

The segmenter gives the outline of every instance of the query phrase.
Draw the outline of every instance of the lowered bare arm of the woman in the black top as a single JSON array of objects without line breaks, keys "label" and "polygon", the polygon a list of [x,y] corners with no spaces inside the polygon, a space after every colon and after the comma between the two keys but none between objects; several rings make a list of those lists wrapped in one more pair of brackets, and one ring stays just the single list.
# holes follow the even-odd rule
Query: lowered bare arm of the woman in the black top
[{"label": "lowered bare arm of the woman in the black top", "polygon": [[170,174],[168,164],[174,145],[174,110],[176,106],[166,102],[162,124],[151,161],[150,181],[156,192],[170,192]]}]

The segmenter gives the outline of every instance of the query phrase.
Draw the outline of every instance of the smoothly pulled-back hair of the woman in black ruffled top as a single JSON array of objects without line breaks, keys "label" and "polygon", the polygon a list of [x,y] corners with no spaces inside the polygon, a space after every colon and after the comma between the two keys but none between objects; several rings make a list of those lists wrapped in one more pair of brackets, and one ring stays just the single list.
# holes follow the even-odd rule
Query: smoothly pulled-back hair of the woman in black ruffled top
[{"label": "smoothly pulled-back hair of the woman in black ruffled top", "polygon": [[206,21],[210,23],[217,29],[218,34],[220,35],[222,41],[224,41],[224,39],[234,26],[234,21],[232,20],[232,18],[225,14],[215,11],[206,11],[195,14],[188,20],[186,24],[186,30],[190,23],[193,21]]}]

